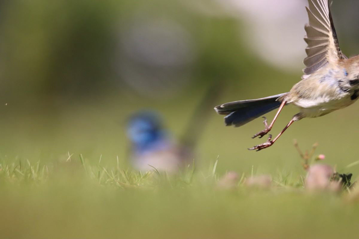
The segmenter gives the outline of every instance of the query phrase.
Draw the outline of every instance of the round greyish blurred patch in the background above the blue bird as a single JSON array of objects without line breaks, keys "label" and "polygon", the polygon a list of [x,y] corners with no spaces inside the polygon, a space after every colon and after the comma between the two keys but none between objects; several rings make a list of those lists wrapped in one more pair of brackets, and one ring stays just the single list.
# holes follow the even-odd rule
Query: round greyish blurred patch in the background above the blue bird
[{"label": "round greyish blurred patch in the background above the blue bird", "polygon": [[136,18],[121,33],[116,66],[140,94],[171,96],[187,83],[196,58],[191,35],[171,19]]}]

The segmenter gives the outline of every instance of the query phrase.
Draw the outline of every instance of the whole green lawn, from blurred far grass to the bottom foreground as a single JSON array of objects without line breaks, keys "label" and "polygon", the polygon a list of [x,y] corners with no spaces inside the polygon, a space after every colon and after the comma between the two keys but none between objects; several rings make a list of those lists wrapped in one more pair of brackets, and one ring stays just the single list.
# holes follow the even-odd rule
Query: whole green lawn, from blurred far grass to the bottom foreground
[{"label": "whole green lawn, from blurred far grass to the bottom foreground", "polygon": [[[36,104],[6,106],[0,124],[1,238],[356,238],[358,191],[308,193],[293,146],[294,137],[302,149],[318,142],[314,156],[325,154],[323,163],[353,173],[355,181],[354,108],[299,121],[260,152],[247,148],[264,141],[250,138],[262,128],[261,119],[233,129],[213,112],[195,167],[167,175],[130,169],[123,122],[131,110],[108,102],[49,112]],[[188,105],[156,103],[176,135],[192,112]],[[170,107],[175,110],[165,111]],[[273,130],[292,111],[288,107]],[[336,134],[343,140],[333,140]],[[227,172],[238,175],[230,189],[218,186]],[[270,185],[247,185],[261,175],[271,177]]]}]

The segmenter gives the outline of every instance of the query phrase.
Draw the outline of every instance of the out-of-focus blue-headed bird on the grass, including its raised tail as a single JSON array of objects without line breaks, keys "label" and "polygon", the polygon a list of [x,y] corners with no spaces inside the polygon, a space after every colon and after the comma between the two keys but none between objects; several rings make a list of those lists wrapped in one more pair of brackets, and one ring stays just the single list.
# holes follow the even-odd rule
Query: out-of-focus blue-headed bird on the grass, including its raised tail
[{"label": "out-of-focus blue-headed bird on the grass, including its raised tail", "polygon": [[155,168],[173,173],[193,165],[196,144],[210,119],[210,106],[223,89],[218,81],[209,82],[209,85],[178,139],[164,129],[155,111],[142,110],[130,117],[127,136],[132,148],[130,159],[136,169]]}]

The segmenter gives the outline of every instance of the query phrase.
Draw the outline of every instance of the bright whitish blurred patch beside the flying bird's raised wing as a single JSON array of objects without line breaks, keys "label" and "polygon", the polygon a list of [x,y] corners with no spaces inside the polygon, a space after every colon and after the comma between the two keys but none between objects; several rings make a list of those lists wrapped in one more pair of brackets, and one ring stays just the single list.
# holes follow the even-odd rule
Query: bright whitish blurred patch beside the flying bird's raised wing
[{"label": "bright whitish blurred patch beside the flying bird's raised wing", "polygon": [[[304,68],[306,32],[308,22],[305,0],[214,0],[227,14],[241,21],[239,34],[248,46],[266,62],[288,70]],[[196,4],[204,14],[214,14]],[[210,5],[210,4],[209,4]],[[218,11],[222,13],[221,10]]]}]

